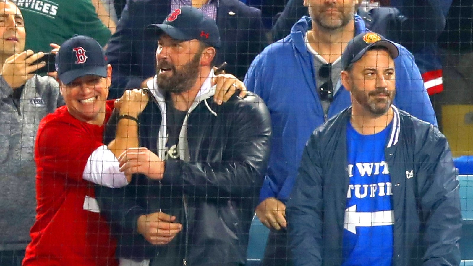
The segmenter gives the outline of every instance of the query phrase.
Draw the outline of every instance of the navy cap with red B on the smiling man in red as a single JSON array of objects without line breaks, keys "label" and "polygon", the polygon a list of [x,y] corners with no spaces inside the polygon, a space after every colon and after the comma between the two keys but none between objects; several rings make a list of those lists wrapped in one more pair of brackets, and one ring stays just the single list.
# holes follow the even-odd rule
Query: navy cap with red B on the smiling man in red
[{"label": "navy cap with red B on the smiling man in red", "polygon": [[64,84],[87,75],[106,78],[105,51],[93,38],[75,35],[61,45],[56,56],[56,71]]}]

